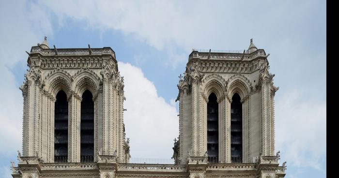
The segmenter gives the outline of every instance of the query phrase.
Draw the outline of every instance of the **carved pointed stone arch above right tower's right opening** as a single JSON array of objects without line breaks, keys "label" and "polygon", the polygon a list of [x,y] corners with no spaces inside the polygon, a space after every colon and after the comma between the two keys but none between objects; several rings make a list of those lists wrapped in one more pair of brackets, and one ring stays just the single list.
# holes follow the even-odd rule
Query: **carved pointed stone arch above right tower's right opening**
[{"label": "carved pointed stone arch above right tower's right opening", "polygon": [[228,79],[229,98],[232,98],[235,93],[238,93],[241,99],[244,99],[253,87],[251,82],[243,74],[234,74]]}]

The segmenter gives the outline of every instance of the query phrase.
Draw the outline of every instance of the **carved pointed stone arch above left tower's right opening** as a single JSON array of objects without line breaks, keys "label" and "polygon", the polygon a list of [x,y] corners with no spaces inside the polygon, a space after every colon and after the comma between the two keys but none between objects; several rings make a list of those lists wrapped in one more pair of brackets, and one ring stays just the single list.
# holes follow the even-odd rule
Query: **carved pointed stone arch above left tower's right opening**
[{"label": "carved pointed stone arch above left tower's right opening", "polygon": [[99,88],[100,77],[95,74],[92,70],[81,69],[74,74],[74,82],[72,88],[78,94],[82,96],[82,93],[86,89],[90,90],[94,96]]}]

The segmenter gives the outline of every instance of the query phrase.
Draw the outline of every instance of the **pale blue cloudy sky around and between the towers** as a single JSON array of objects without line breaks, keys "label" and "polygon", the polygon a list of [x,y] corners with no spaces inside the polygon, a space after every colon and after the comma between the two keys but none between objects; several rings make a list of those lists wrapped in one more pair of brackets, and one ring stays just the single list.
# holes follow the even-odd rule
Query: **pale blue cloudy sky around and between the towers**
[{"label": "pale blue cloudy sky around and between the towers", "polygon": [[124,124],[133,158],[170,159],[179,134],[178,76],[192,48],[269,53],[276,152],[285,178],[326,177],[325,0],[1,0],[0,177],[22,145],[31,46],[111,47],[124,76]]}]

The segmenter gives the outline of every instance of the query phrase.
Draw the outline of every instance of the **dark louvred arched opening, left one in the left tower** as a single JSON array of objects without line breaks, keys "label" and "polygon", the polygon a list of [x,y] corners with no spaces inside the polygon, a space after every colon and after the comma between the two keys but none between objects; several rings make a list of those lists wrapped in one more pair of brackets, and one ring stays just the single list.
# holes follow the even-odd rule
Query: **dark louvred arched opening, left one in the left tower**
[{"label": "dark louvred arched opening, left one in the left tower", "polygon": [[64,91],[59,91],[54,104],[54,162],[68,160],[68,102]]}]

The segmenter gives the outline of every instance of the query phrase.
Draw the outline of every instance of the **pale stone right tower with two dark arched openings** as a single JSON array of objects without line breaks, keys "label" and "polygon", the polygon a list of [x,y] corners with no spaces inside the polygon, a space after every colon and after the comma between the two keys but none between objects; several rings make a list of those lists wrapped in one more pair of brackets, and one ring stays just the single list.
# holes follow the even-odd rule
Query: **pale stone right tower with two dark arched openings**
[{"label": "pale stone right tower with two dark arched openings", "polygon": [[274,74],[251,39],[244,52],[193,50],[178,84],[178,160],[254,163],[274,156]]}]

